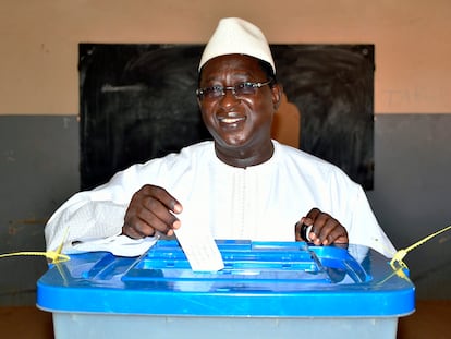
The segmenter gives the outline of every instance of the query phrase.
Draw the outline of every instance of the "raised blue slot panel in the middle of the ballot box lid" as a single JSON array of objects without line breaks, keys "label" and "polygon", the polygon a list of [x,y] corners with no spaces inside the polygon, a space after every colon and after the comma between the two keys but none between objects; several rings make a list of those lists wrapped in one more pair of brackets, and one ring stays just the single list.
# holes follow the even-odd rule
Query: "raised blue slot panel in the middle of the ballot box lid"
[{"label": "raised blue slot panel in the middle of the ballot box lid", "polygon": [[[241,289],[271,289],[302,283],[367,282],[370,276],[345,249],[313,246],[304,242],[217,241],[224,262],[219,271],[195,273],[176,241],[159,241],[139,257],[122,281],[166,282],[182,289],[208,284],[218,290],[228,283]],[[348,278],[348,279],[345,279]],[[210,290],[211,290],[210,288]]]}]

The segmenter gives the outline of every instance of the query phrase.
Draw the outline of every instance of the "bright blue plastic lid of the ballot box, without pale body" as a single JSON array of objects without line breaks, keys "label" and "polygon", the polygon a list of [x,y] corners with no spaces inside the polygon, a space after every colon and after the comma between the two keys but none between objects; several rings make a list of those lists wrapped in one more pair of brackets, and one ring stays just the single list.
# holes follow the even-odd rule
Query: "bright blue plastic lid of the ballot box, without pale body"
[{"label": "bright blue plastic lid of the ballot box, without pale body", "polygon": [[176,241],[138,258],[72,255],[37,283],[51,312],[197,316],[401,316],[414,286],[374,250],[303,242],[218,241],[224,269],[194,273]]}]

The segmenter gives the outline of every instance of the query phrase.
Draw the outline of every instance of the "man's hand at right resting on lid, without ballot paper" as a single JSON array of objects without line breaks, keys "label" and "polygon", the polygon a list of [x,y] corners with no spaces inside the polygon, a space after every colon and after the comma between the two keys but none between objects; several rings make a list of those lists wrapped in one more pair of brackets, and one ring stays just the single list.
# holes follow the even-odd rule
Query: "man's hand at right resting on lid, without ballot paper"
[{"label": "man's hand at right resting on lid, without ballot paper", "polygon": [[[304,241],[312,241],[316,245],[349,242],[346,229],[337,219],[318,208],[313,208],[306,217],[301,219],[298,225],[296,225],[296,240],[301,238]],[[308,228],[303,228],[303,225],[312,226],[308,233],[305,234],[306,239],[302,238],[302,234]]]}]

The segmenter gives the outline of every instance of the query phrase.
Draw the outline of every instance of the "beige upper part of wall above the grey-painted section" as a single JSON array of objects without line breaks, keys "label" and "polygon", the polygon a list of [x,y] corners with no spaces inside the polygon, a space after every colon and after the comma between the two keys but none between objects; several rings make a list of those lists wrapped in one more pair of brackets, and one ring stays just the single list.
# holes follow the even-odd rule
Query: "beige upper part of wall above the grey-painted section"
[{"label": "beige upper part of wall above the grey-painted section", "polygon": [[205,43],[242,16],[270,43],[376,45],[376,113],[451,113],[449,0],[2,0],[0,114],[77,114],[78,43]]}]

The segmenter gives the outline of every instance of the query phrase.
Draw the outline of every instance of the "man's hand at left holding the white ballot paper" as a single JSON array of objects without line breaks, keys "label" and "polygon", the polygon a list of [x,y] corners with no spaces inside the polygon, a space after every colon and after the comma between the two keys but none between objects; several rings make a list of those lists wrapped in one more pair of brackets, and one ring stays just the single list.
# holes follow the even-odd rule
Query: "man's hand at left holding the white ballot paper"
[{"label": "man's hand at left holding the white ballot paper", "polygon": [[139,239],[159,231],[168,237],[180,227],[175,214],[182,211],[179,203],[164,189],[146,184],[137,191],[126,209],[122,234]]}]

